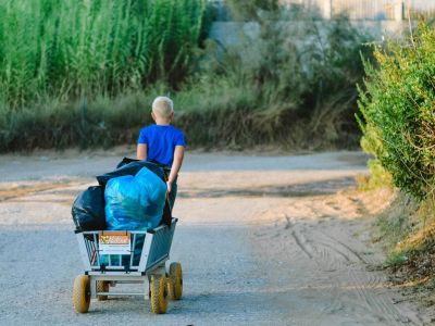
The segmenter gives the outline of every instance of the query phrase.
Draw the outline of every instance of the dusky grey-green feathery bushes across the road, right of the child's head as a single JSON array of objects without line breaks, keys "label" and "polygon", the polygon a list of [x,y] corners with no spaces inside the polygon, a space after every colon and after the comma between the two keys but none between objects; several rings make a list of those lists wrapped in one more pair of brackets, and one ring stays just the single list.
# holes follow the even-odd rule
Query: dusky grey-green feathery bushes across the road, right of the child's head
[{"label": "dusky grey-green feathery bushes across the road, right of the child's head", "polygon": [[236,143],[355,146],[355,85],[363,75],[360,52],[370,57],[370,36],[346,17],[326,21],[311,12],[270,10],[257,20],[240,45],[224,51],[209,45],[189,89],[206,98],[199,106],[245,112],[237,129],[246,131],[234,136]]}]

